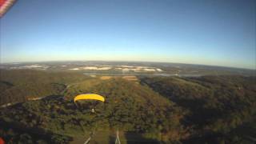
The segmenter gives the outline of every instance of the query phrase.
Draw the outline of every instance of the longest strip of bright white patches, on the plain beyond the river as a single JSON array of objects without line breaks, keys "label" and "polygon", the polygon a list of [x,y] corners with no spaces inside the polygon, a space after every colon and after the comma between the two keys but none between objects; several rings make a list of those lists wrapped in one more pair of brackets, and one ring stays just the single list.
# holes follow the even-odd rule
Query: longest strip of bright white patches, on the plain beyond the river
[{"label": "longest strip of bright white patches, on the plain beyond the river", "polygon": [[83,67],[72,68],[69,70],[122,70],[124,72],[127,72],[127,71],[134,71],[134,72],[158,71],[158,72],[162,72],[163,71],[159,68],[150,67],[150,66],[83,66]]}]

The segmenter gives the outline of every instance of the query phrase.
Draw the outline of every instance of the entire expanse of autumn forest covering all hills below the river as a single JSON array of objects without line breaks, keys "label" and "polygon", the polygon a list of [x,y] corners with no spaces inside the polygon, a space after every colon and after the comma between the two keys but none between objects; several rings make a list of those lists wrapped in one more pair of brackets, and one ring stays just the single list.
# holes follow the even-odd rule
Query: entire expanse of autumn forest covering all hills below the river
[{"label": "entire expanse of autumn forest covering all hills below the river", "polygon": [[[154,143],[253,143],[256,136],[255,77],[129,81],[75,72],[0,72],[0,136],[10,143],[69,143],[92,130],[140,134]],[[87,93],[106,102],[76,106],[74,96]]]}]

